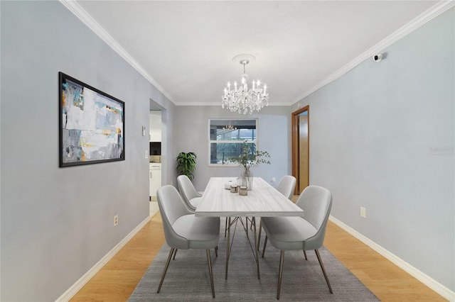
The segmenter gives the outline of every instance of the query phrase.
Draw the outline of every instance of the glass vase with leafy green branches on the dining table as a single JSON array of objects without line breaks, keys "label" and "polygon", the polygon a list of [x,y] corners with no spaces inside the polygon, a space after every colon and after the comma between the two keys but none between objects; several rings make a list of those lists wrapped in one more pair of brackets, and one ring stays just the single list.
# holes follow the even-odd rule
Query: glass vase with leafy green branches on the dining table
[{"label": "glass vase with leafy green branches on the dining table", "polygon": [[232,162],[238,162],[243,167],[241,174],[242,186],[247,186],[248,190],[253,187],[253,173],[250,167],[257,166],[258,164],[270,164],[267,158],[270,157],[269,152],[254,150],[253,144],[248,144],[247,140],[242,144],[242,153],[237,157],[232,157]]}]

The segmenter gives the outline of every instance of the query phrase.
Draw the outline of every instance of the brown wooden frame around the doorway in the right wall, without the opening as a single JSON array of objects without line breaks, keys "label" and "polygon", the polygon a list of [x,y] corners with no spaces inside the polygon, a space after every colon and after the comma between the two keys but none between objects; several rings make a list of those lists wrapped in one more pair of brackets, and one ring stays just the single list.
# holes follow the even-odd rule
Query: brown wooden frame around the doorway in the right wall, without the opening
[{"label": "brown wooden frame around the doorway in the right wall, without the opening", "polygon": [[[300,194],[301,189],[299,188],[299,177],[300,177],[300,150],[299,150],[299,114],[307,111],[308,112],[308,163],[310,162],[310,106],[304,106],[297,111],[291,113],[291,135],[292,135],[292,176],[294,176],[296,181],[296,189],[294,194]],[[308,180],[310,179],[310,169],[308,169]]]}]

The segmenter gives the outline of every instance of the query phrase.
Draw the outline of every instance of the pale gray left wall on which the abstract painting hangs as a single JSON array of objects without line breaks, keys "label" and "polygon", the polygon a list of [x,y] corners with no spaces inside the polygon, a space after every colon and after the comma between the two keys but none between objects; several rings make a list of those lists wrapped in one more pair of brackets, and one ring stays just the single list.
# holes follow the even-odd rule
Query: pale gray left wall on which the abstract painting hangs
[{"label": "pale gray left wall on which the abstract painting hangs", "polygon": [[[126,160],[58,167],[59,71],[125,102]],[[1,301],[54,301],[149,216],[149,99],[172,119],[60,2],[1,1]]]}]

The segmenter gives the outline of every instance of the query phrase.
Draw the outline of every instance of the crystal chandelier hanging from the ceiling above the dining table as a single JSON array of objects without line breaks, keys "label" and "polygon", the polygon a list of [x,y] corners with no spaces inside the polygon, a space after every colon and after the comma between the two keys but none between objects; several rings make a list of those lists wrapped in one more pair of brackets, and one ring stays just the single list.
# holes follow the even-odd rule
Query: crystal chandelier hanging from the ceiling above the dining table
[{"label": "crystal chandelier hanging from the ceiling above the dining table", "polygon": [[259,81],[252,82],[252,88],[248,89],[248,75],[245,72],[245,66],[250,61],[255,60],[253,55],[237,55],[232,61],[239,61],[243,65],[242,82],[237,87],[237,82],[234,82],[234,87],[231,90],[230,82],[224,89],[221,107],[228,108],[230,111],[246,114],[247,112],[259,111],[264,106],[269,105],[269,94],[267,94],[267,85]]}]

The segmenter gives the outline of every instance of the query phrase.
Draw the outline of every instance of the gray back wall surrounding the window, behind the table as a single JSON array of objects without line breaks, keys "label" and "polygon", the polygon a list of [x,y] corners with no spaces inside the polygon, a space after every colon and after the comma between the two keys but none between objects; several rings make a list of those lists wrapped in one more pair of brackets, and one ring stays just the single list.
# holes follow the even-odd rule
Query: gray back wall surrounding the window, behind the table
[{"label": "gray back wall surrounding the window, behind the table", "polygon": [[[173,121],[175,157],[179,152],[195,152],[196,174],[193,184],[203,191],[210,177],[240,177],[241,167],[208,167],[208,120],[209,118],[257,118],[258,150],[270,154],[271,164],[253,167],[255,177],[270,182],[272,177],[279,181],[291,171],[291,114],[289,106],[269,106],[252,115],[231,113],[221,106],[177,106]],[[174,179],[174,184],[176,180]]]}]

